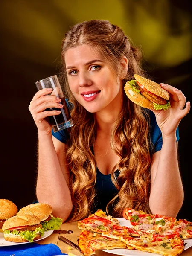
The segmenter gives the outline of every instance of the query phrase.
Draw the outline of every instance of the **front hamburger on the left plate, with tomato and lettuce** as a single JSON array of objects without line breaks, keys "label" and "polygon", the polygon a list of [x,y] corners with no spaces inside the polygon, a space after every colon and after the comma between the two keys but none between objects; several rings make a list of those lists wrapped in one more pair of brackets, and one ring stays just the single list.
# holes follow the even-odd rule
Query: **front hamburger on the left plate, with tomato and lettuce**
[{"label": "front hamburger on the left plate, with tomato and lettuce", "polygon": [[33,242],[40,239],[44,229],[34,215],[13,216],[3,224],[4,239],[10,242]]}]

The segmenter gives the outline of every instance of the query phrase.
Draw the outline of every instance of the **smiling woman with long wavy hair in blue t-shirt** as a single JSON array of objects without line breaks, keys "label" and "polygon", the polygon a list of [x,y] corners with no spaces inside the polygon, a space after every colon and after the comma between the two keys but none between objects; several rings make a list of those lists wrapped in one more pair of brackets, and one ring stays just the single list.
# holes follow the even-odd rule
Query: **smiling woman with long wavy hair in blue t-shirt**
[{"label": "smiling woman with long wavy hair in blue t-shirt", "polygon": [[[126,207],[176,217],[183,203],[177,161],[180,120],[190,103],[180,90],[167,111],[146,111],[125,95],[126,81],[145,76],[140,49],[108,21],[73,26],[63,40],[61,82],[72,103],[74,126],[52,133],[45,119],[61,100],[38,91],[29,110],[38,128],[39,202],[66,220],[96,209],[114,217]],[[184,109],[183,109],[184,108]],[[107,208],[106,208],[107,207]]]}]

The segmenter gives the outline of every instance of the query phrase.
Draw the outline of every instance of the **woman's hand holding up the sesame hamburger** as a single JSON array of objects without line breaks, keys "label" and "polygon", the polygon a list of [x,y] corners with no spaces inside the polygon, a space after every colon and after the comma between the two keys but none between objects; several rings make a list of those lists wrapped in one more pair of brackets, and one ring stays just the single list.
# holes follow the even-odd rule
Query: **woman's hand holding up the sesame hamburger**
[{"label": "woman's hand holding up the sesame hamburger", "polygon": [[[166,137],[175,134],[180,120],[189,113],[190,102],[186,103],[185,95],[177,88],[169,84],[161,84],[161,87],[170,93],[171,108],[168,110],[152,110],[156,116],[157,125]],[[186,107],[184,108],[186,103]],[[183,109],[184,108],[184,109]]]}]

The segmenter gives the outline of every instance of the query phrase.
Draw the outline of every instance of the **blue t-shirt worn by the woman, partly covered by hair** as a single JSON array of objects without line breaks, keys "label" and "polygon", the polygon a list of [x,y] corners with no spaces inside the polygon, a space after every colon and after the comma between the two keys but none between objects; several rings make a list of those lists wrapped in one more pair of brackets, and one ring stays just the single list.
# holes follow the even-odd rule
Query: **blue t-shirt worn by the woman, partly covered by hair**
[{"label": "blue t-shirt worn by the woman, partly covered by hair", "polygon": [[[151,143],[154,145],[154,152],[160,151],[162,148],[163,140],[162,134],[159,126],[156,122],[156,117],[152,111],[149,111],[150,114],[150,135],[151,135]],[[67,139],[69,139],[70,135],[67,131],[61,130],[58,132],[53,132],[52,135],[60,140],[62,143],[66,143]],[[179,140],[179,129],[177,127],[176,130],[177,141]],[[116,177],[119,176],[119,170],[115,172]],[[96,197],[94,201],[94,206],[92,212],[95,212],[97,209],[102,209],[105,211],[106,205],[109,201],[117,194],[117,189],[111,181],[111,174],[104,175],[97,168],[97,179],[95,184]]]}]

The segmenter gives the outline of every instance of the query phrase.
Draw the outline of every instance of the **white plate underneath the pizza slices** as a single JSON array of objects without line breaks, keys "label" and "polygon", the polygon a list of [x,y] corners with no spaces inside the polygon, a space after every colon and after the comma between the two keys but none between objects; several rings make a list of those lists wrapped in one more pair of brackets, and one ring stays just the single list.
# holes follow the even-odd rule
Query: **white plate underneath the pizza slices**
[{"label": "white plate underneath the pizza slices", "polygon": [[[130,221],[125,220],[125,218],[118,218],[120,226],[133,227]],[[184,239],[185,249],[188,249],[192,246],[192,239]],[[103,250],[106,253],[113,253],[117,255],[125,255],[125,256],[162,256],[162,254],[157,253],[147,253],[139,250],[129,250],[129,249],[112,249],[112,250]]]}]

